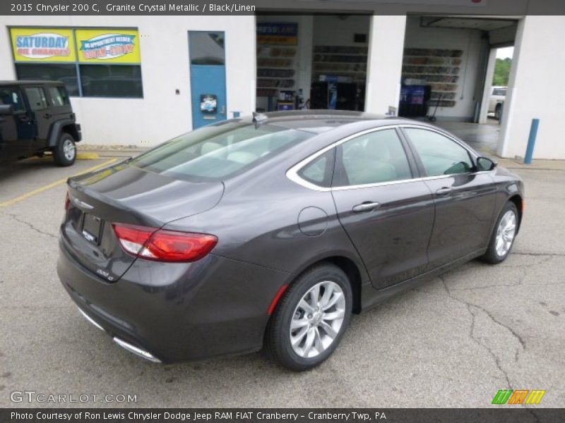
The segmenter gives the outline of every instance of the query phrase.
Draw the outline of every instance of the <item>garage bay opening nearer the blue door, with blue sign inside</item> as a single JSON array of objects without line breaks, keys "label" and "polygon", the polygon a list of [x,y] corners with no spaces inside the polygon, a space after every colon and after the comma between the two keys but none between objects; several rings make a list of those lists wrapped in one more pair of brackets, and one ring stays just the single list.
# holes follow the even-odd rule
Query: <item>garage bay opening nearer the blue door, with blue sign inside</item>
[{"label": "garage bay opening nearer the blue door, with blue sign inside", "polygon": [[364,110],[368,15],[258,15],[257,111]]}]

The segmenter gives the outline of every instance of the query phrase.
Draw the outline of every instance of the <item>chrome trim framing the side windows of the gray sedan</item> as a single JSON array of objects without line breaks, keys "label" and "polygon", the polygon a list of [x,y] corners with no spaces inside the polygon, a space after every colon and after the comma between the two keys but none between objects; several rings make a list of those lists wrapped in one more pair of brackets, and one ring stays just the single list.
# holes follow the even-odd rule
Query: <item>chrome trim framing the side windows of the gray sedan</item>
[{"label": "chrome trim framing the side windows of the gray sedan", "polygon": [[[438,129],[430,128],[429,126],[423,126],[423,125],[417,125],[417,124],[398,124],[397,123],[395,125],[384,125],[384,126],[379,126],[379,128],[371,128],[371,129],[362,130],[362,131],[355,133],[353,135],[348,135],[347,137],[342,138],[341,140],[335,141],[331,145],[323,147],[323,149],[320,149],[319,151],[315,152],[314,154],[311,154],[306,159],[302,159],[301,161],[299,161],[297,164],[295,164],[294,166],[292,166],[290,169],[287,170],[286,176],[287,176],[287,178],[292,180],[292,182],[297,183],[298,185],[301,185],[304,188],[308,188],[309,190],[314,190],[314,191],[319,191],[319,192],[331,192],[331,191],[344,191],[344,190],[358,190],[360,188],[374,188],[374,187],[381,187],[381,186],[387,186],[387,185],[398,185],[400,183],[418,182],[418,181],[423,181],[423,180],[453,178],[454,176],[457,176],[457,175],[466,175],[466,174],[477,175],[479,173],[490,173],[490,172],[492,172],[492,171],[477,171],[477,172],[472,172],[472,173],[450,173],[449,175],[424,176],[423,178],[391,180],[391,181],[388,181],[388,182],[369,183],[369,184],[364,184],[364,185],[345,185],[345,186],[340,186],[340,187],[321,187],[319,185],[316,185],[314,183],[311,183],[311,182],[305,180],[304,178],[301,178],[298,175],[298,172],[304,166],[307,166],[307,164],[309,164],[311,161],[316,160],[322,154],[328,152],[329,150],[331,150],[335,147],[338,147],[338,145],[341,145],[344,142],[347,142],[347,141],[352,140],[352,139],[357,138],[357,137],[361,137],[362,135],[374,133],[374,132],[379,131],[379,130],[396,129],[396,128],[416,128],[416,129],[429,130],[429,131],[432,131],[432,132],[435,132],[435,133],[439,133],[439,135],[444,135],[444,137],[448,138],[449,140],[456,142],[457,145],[459,145],[460,147],[463,147],[463,149],[465,149],[465,151],[468,152],[468,154],[470,155],[470,157],[472,159],[474,159],[475,161],[477,160],[478,156],[475,152],[470,150],[467,146],[463,145],[460,142],[460,140],[458,140],[457,138],[454,138],[453,136],[449,135],[448,133],[445,133],[443,130],[440,130],[439,128]],[[400,137],[399,137],[399,140],[400,140]]]}]

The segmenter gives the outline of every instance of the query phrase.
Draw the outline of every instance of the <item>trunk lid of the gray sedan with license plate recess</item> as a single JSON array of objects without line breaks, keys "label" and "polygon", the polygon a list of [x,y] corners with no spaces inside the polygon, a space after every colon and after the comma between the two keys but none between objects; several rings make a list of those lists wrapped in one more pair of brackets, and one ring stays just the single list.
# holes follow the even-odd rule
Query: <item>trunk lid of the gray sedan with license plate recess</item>
[{"label": "trunk lid of the gray sedan with license plate recess", "polygon": [[86,269],[117,281],[136,260],[119,244],[112,223],[160,228],[218,204],[220,181],[193,183],[119,164],[69,180],[62,241]]}]

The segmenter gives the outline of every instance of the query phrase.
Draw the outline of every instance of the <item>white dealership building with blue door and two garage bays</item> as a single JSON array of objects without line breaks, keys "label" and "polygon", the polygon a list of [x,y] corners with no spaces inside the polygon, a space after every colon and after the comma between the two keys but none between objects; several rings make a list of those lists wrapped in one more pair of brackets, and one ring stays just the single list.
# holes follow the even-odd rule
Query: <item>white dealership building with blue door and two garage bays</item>
[{"label": "white dealership building with blue door and two garage bays", "polygon": [[64,81],[92,145],[152,146],[251,111],[304,106],[435,113],[439,125],[480,133],[492,125],[496,49],[513,46],[492,149],[523,157],[537,118],[534,158],[565,159],[565,16],[530,14],[533,0],[516,1],[511,16],[494,1],[420,1],[444,5],[436,14],[411,1],[391,14],[382,3],[295,0],[283,14],[257,2],[252,16],[0,16],[0,80]]}]

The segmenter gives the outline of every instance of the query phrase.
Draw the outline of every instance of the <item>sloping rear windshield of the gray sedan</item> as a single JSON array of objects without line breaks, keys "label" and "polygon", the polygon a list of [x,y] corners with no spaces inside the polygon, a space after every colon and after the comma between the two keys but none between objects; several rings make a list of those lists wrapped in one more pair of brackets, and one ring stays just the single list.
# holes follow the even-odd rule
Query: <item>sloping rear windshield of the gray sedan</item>
[{"label": "sloping rear windshield of the gray sedan", "polygon": [[130,164],[183,180],[222,180],[256,166],[314,133],[227,122],[176,137]]}]

